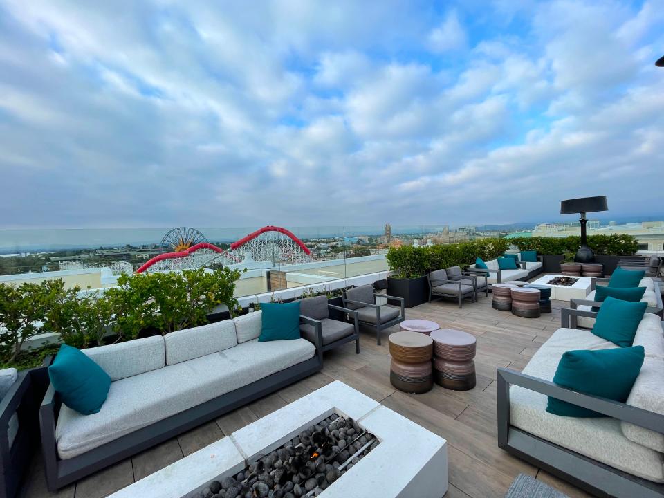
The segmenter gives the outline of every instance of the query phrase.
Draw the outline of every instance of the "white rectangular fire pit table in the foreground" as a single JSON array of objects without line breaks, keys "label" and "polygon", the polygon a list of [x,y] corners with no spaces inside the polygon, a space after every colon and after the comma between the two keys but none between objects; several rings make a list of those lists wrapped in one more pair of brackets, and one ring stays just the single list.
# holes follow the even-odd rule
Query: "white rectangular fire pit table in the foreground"
[{"label": "white rectangular fire pit table in the foreground", "polygon": [[[342,419],[344,423],[340,423]],[[210,496],[212,489],[223,489],[228,494],[228,489],[238,486],[264,496],[264,484],[275,489],[277,481],[284,480],[279,472],[284,463],[288,468],[302,463],[301,454],[298,459],[293,457],[295,450],[308,444],[308,439],[317,442],[320,427],[329,429],[332,425],[329,432],[344,431],[344,440],[349,441],[339,449],[349,454],[359,452],[362,457],[349,458],[344,464],[333,457],[331,461],[336,463],[332,465],[315,455],[301,465],[313,465],[306,475],[314,477],[296,479],[297,483],[288,477],[290,480],[283,485],[278,484],[283,494],[282,486],[295,488],[295,484],[303,491],[302,496],[323,498],[440,498],[447,492],[447,441],[336,380],[140,479],[111,498],[199,498]],[[357,451],[356,443],[360,445]],[[332,448],[333,455],[336,449]],[[261,477],[248,486],[245,482],[252,481],[248,479],[252,474]]]}]

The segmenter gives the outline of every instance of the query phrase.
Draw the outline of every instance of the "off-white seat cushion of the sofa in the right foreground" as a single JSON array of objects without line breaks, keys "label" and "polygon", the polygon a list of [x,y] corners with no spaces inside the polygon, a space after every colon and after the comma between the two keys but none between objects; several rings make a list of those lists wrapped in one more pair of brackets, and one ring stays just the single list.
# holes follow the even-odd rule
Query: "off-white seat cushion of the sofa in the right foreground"
[{"label": "off-white seat cushion of the sofa in the right foreground", "polygon": [[[560,336],[563,337],[569,338],[566,333]],[[574,349],[582,347],[582,344],[578,344]],[[563,353],[562,349],[548,347],[547,341],[528,362],[523,373],[553,380]],[[658,483],[664,482],[664,455],[629,441],[620,430],[620,421],[610,417],[557,416],[546,412],[546,405],[545,394],[523,387],[510,387],[511,425],[629,474]]]}]

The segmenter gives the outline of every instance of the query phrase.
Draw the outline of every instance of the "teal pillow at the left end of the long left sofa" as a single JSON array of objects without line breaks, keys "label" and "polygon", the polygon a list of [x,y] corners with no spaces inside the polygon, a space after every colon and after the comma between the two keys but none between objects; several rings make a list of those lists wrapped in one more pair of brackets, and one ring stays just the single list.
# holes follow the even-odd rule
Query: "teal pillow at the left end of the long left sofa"
[{"label": "teal pillow at the left end of the long left sofa", "polygon": [[48,367],[48,377],[62,403],[80,414],[98,413],[109,395],[111,378],[75,347],[62,344]]}]

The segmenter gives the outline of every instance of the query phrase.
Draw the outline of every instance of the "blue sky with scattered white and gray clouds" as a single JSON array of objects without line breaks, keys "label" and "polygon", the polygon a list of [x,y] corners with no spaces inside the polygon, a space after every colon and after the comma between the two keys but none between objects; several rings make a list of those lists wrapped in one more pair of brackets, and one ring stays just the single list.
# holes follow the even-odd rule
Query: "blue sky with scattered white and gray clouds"
[{"label": "blue sky with scattered white and gray clouds", "polygon": [[664,0],[0,0],[0,226],[662,214]]}]

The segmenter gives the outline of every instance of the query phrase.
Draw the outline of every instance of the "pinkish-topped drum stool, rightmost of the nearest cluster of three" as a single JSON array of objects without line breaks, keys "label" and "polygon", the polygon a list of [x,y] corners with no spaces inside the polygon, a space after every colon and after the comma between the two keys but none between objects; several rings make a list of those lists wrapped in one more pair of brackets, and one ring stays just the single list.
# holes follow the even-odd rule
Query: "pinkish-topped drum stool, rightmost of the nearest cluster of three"
[{"label": "pinkish-topped drum stool, rightmost of the nearest cluster of three", "polygon": [[434,340],[434,382],[445,389],[468,391],[475,387],[477,341],[472,334],[442,329],[430,334]]}]

